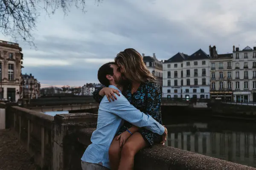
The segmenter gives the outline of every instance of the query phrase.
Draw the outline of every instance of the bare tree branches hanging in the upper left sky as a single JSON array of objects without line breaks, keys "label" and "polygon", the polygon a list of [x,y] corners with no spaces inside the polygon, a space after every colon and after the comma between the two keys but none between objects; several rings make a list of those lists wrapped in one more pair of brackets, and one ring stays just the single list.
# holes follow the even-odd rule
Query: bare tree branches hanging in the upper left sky
[{"label": "bare tree branches hanging in the upper left sky", "polygon": [[[35,45],[32,31],[40,11],[44,10],[48,15],[54,14],[58,8],[62,8],[64,15],[69,8],[76,6],[85,12],[86,0],[0,0],[0,29],[6,36],[17,40],[21,38],[30,45]],[[95,0],[100,3],[101,0]],[[41,6],[44,3],[44,6]]]}]

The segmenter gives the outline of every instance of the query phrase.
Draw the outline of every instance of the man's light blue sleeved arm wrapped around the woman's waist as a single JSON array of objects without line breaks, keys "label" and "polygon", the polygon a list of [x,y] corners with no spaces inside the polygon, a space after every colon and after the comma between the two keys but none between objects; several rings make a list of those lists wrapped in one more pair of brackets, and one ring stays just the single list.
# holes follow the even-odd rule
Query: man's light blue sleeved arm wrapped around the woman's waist
[{"label": "man's light blue sleeved arm wrapped around the woman's waist", "polygon": [[[115,94],[116,95],[116,94]],[[162,135],[165,128],[158,123],[150,115],[146,115],[140,110],[131,105],[124,96],[117,96],[115,102],[109,102],[109,111],[117,116],[125,119],[127,122],[137,126],[145,127],[146,129]]]}]

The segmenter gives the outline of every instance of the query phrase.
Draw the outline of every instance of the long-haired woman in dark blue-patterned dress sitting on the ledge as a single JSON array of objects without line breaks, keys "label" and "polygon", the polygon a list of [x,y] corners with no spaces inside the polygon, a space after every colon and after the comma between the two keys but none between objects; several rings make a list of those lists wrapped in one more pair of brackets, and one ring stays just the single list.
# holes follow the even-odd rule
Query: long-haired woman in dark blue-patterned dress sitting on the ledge
[{"label": "long-haired woman in dark blue-patterned dress sitting on the ledge", "polygon": [[[160,87],[148,71],[140,53],[133,48],[125,49],[117,54],[115,62],[129,81],[124,86],[122,94],[135,108],[151,115],[162,124]],[[114,93],[118,94],[118,91],[105,87],[94,91],[93,97],[100,103],[102,97],[107,95],[109,101],[112,99],[114,102]],[[116,135],[109,148],[111,170],[132,170],[137,152],[161,142],[160,135],[133,126],[129,122],[125,122]]]}]

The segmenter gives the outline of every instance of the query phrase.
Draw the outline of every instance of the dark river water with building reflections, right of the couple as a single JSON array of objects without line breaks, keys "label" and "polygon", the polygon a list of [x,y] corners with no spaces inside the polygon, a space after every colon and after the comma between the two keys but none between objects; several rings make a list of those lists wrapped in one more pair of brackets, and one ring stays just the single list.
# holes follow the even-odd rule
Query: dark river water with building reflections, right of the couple
[{"label": "dark river water with building reflections, right of the couple", "polygon": [[168,146],[256,167],[255,122],[176,117],[164,123]]}]

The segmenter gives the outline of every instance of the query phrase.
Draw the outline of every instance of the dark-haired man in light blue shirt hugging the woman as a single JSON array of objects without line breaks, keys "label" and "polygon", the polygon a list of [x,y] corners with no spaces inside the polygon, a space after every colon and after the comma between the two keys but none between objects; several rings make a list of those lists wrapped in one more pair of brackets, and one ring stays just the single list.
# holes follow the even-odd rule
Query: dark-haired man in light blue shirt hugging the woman
[{"label": "dark-haired man in light blue shirt hugging the woman", "polygon": [[81,158],[83,170],[108,170],[110,168],[108,150],[111,142],[124,120],[137,127],[144,127],[166,138],[167,129],[151,116],[134,108],[122,95],[119,84],[122,82],[121,72],[114,62],[102,65],[98,71],[98,79],[103,85],[119,91],[115,102],[109,102],[104,96],[98,112],[97,129],[93,132],[91,142]]}]

